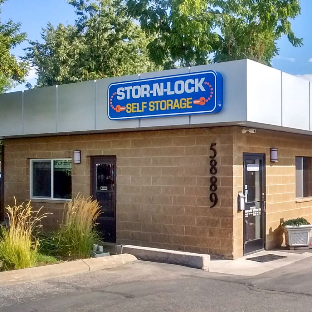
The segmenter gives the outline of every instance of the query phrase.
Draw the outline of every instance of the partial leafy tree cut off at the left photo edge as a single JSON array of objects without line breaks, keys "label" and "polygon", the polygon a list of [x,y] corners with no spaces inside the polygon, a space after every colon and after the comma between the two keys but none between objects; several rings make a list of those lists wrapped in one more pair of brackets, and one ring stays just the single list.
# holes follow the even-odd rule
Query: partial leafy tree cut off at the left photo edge
[{"label": "partial leafy tree cut off at the left photo edge", "polygon": [[[5,0],[0,0],[0,6]],[[1,13],[1,10],[0,10]],[[18,61],[11,50],[26,40],[26,33],[20,32],[20,23],[1,22],[0,19],[0,93],[10,90],[15,84],[25,81],[28,62]]]}]

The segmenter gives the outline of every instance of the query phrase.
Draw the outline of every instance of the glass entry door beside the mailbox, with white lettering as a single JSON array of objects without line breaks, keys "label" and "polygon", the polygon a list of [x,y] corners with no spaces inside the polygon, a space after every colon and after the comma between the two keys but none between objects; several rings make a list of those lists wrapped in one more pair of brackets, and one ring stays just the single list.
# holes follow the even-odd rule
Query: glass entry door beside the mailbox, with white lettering
[{"label": "glass entry door beside the mailbox, with white lettering", "polygon": [[245,195],[244,254],[264,248],[265,243],[265,155],[243,154]]}]

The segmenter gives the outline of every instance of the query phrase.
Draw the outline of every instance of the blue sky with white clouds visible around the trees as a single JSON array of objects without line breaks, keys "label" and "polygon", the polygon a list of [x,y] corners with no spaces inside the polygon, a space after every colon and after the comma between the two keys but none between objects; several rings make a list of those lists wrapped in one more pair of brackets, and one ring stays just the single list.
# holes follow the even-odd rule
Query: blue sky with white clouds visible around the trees
[{"label": "blue sky with white clouds visible around the trees", "polygon": [[[2,21],[12,19],[21,22],[21,30],[27,32],[31,40],[41,40],[41,28],[51,22],[54,26],[59,23],[72,24],[76,14],[74,8],[65,0],[7,0],[2,5],[0,15]],[[297,37],[304,38],[304,46],[295,48],[291,46],[286,37],[279,40],[280,55],[272,60],[272,66],[293,75],[304,75],[312,80],[312,34],[311,34],[312,0],[301,0],[301,15],[292,21],[292,28]],[[25,42],[18,46],[13,53],[16,56],[24,54]],[[310,60],[310,61],[309,61]],[[35,84],[36,74],[31,71],[27,80]],[[19,85],[14,90],[24,90]]]}]

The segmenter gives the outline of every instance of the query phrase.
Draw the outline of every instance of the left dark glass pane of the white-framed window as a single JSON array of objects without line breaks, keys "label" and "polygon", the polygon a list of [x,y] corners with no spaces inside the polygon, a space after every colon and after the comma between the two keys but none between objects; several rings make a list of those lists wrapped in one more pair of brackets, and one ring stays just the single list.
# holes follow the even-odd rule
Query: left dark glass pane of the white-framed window
[{"label": "left dark glass pane of the white-framed window", "polygon": [[51,161],[32,162],[32,196],[51,197]]}]

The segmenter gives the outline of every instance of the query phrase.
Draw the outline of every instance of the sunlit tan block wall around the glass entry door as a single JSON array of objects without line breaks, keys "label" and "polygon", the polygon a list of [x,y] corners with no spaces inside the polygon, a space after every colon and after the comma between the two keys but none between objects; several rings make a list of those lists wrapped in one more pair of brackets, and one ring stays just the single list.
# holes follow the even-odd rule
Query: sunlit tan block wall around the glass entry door
[{"label": "sunlit tan block wall around the glass entry door", "polygon": [[[312,137],[257,129],[256,134],[242,134],[236,128],[234,139],[234,257],[242,256],[243,214],[237,212],[237,192],[243,190],[243,153],[266,154],[266,249],[284,242],[280,223],[304,217],[312,223],[312,199],[297,203],[295,198],[295,156],[312,157]],[[270,162],[270,148],[278,148],[278,162]]]}]

